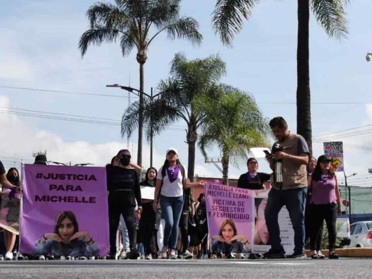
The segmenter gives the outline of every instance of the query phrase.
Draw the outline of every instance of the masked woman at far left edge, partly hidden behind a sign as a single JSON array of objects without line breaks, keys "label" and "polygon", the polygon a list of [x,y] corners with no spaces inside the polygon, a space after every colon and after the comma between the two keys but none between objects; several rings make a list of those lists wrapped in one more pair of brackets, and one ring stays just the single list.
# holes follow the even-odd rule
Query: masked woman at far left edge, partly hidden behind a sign
[{"label": "masked woman at far left edge, partly hidden behind a sign", "polygon": [[[16,168],[10,168],[8,170],[7,179],[14,186],[19,187],[20,185],[19,173]],[[19,199],[16,198],[10,199],[8,195],[3,194],[1,208],[5,207],[8,209],[7,220],[19,218]],[[5,260],[13,259],[13,249],[16,243],[16,237],[17,235],[15,233],[12,233],[4,229],[4,242],[5,248],[7,250],[7,253],[5,254]]]}]

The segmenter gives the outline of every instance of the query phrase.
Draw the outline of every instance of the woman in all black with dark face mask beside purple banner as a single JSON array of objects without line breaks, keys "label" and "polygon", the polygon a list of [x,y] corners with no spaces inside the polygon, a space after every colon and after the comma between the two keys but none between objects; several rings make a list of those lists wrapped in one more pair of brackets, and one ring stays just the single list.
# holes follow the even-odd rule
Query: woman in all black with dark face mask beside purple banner
[{"label": "woman in all black with dark face mask beside purple banner", "polygon": [[[129,234],[130,252],[126,258],[137,259],[139,254],[136,249],[137,231],[135,214],[141,217],[142,200],[138,175],[130,166],[131,153],[128,149],[121,149],[117,153],[118,166],[107,169],[107,190],[110,222],[110,255],[109,259],[117,259],[116,231],[122,214]],[[136,201],[138,205],[135,212]]]}]

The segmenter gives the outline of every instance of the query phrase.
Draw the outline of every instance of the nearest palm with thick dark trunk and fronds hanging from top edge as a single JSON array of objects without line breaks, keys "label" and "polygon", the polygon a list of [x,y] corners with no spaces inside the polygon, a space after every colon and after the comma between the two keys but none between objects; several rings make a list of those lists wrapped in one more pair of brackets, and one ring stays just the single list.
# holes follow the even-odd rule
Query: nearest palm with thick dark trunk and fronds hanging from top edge
[{"label": "nearest palm with thick dark trunk and fronds hanging from top edge", "polygon": [[[224,44],[231,44],[242,28],[243,18],[252,15],[259,0],[217,0],[213,12],[213,28]],[[348,34],[344,6],[349,0],[297,0],[297,133],[302,135],[312,152],[311,95],[309,82],[309,10],[329,37],[340,39]]]}]

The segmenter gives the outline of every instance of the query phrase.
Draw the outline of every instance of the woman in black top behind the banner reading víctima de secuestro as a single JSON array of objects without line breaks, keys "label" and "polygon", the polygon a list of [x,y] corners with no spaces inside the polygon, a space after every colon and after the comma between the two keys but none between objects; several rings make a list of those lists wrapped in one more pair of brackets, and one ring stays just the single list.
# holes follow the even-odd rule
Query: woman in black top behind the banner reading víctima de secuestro
[{"label": "woman in black top behind the banner reading v\u00edctima de secuestro", "polygon": [[238,180],[238,188],[263,190],[264,182],[270,180],[270,174],[257,172],[258,162],[255,158],[250,158],[246,162],[248,171],[240,175]]}]

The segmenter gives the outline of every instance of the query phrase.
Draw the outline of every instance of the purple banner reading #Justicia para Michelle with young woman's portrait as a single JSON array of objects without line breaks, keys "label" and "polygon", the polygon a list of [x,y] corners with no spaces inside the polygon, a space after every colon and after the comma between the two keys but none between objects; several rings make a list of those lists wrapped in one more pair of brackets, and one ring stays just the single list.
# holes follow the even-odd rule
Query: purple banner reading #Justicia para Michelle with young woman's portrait
[{"label": "purple banner reading #Justicia para Michelle with young woman's portrait", "polygon": [[21,253],[108,254],[105,168],[25,165],[22,174]]}]

